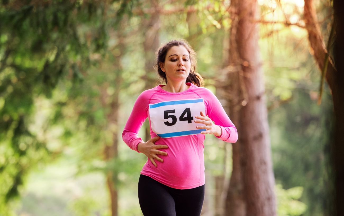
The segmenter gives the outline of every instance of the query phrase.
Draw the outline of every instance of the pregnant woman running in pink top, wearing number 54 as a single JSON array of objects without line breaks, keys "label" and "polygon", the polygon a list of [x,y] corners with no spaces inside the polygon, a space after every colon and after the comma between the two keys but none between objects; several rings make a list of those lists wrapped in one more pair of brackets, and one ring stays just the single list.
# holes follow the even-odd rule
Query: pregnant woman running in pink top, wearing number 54
[{"label": "pregnant woman running in pink top, wearing number 54", "polygon": [[[186,41],[173,40],[156,54],[155,66],[166,85],[140,94],[122,133],[131,149],[148,158],[138,183],[140,207],[145,216],[199,216],[204,134],[236,142],[237,130],[216,96],[201,87],[195,52]],[[146,118],[151,139],[143,142],[138,132]]]}]

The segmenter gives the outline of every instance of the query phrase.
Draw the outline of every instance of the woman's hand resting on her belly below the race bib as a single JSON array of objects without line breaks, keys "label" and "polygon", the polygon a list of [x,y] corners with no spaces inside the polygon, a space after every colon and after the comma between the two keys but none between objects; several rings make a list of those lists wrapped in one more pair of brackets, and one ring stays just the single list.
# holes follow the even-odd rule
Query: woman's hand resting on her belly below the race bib
[{"label": "woman's hand resting on her belly below the race bib", "polygon": [[158,157],[157,154],[161,155],[167,155],[167,152],[159,151],[158,149],[167,149],[167,145],[155,145],[155,141],[160,139],[159,136],[153,137],[152,139],[148,140],[147,142],[140,142],[137,145],[137,150],[139,152],[142,152],[143,154],[146,154],[146,156],[149,158],[149,160],[152,162],[152,164],[157,167],[157,164],[155,163],[154,159],[164,162],[161,158]]}]

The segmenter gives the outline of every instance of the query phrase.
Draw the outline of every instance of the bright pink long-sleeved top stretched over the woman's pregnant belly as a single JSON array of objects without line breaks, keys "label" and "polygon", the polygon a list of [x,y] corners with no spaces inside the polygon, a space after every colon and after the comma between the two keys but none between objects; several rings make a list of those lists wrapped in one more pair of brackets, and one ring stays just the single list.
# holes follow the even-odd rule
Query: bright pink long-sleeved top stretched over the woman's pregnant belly
[{"label": "bright pink long-sleeved top stretched over the woman's pregnant belly", "polygon": [[[217,137],[225,142],[236,142],[238,132],[232,121],[228,118],[225,110],[216,96],[208,89],[198,87],[192,83],[186,83],[190,87],[182,92],[172,93],[161,88],[163,85],[143,91],[137,98],[129,119],[124,127],[122,138],[127,145],[137,150],[137,145],[143,140],[138,137],[138,132],[144,122],[149,118],[149,104],[162,101],[204,99],[205,115],[211,118],[216,125],[221,127],[222,134]],[[157,136],[152,131],[149,118],[151,137]],[[160,149],[168,153],[167,156],[158,156],[164,162],[157,163],[155,167],[150,160],[143,165],[142,175],[147,175],[158,182],[177,189],[190,189],[205,183],[204,177],[204,134],[189,136],[160,138],[155,142],[159,145],[168,145],[167,149]]]}]

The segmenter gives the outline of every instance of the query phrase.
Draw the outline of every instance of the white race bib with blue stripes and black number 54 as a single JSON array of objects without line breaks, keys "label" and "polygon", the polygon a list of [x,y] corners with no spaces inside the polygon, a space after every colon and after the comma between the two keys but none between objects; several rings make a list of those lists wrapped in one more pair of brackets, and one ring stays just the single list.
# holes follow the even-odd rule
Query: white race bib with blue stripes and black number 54
[{"label": "white race bib with blue stripes and black number 54", "polygon": [[149,104],[152,130],[161,138],[201,133],[205,129],[196,129],[196,126],[204,124],[194,122],[194,116],[200,116],[200,111],[205,114],[203,98]]}]

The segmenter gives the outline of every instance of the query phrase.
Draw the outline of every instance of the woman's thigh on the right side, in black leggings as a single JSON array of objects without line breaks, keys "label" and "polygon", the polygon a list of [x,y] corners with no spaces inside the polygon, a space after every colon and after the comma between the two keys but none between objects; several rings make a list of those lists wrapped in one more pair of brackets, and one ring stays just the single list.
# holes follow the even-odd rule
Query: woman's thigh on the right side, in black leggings
[{"label": "woman's thigh on the right side, in black leggings", "polygon": [[171,192],[175,202],[176,216],[200,216],[204,201],[204,185]]}]

